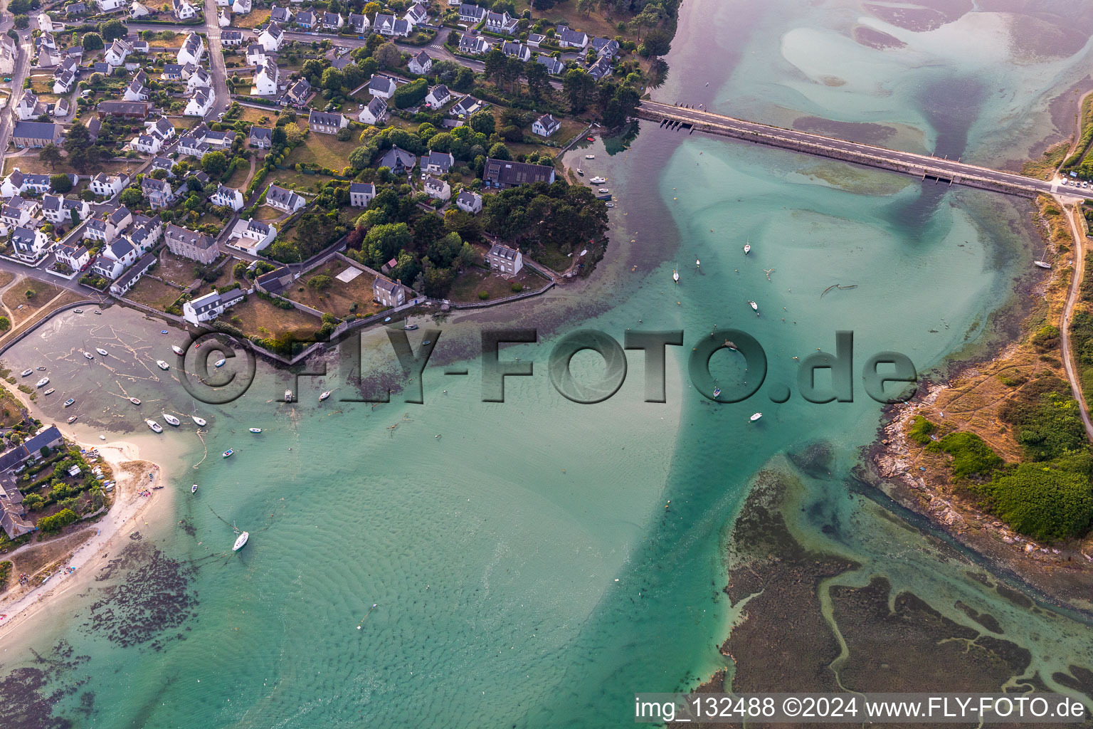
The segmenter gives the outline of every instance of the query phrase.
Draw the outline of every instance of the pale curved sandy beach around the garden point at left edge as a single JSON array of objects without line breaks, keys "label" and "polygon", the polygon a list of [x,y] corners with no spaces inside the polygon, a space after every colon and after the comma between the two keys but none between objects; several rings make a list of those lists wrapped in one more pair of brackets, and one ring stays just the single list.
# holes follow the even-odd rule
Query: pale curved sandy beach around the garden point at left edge
[{"label": "pale curved sandy beach around the garden point at left edge", "polygon": [[[132,443],[114,440],[89,445],[75,440],[64,428],[61,428],[61,432],[67,440],[75,443],[80,448],[86,450],[97,448],[103,460],[110,465],[117,481],[114,487],[114,503],[97,522],[86,529],[92,532],[90,539],[75,548],[68,558],[58,557],[62,560],[61,567],[48,577],[46,583],[35,587],[19,586],[0,597],[0,638],[10,632],[12,626],[33,616],[51,601],[56,601],[60,595],[85,584],[94,575],[95,567],[106,564],[108,555],[118,549],[120,540],[144,528],[160,510],[158,507],[171,503],[171,498],[166,497],[167,489],[150,489],[152,485],[166,485],[168,480],[166,472],[156,463],[141,460],[140,449]],[[150,473],[154,474],[153,480],[149,479]],[[140,493],[144,490],[149,490],[151,495],[141,496]],[[153,504],[157,506],[156,509],[150,508]],[[33,541],[2,557],[15,562],[17,574],[19,555],[40,546],[40,542]],[[51,561],[55,562],[57,560]],[[67,567],[74,569],[70,572]]]}]

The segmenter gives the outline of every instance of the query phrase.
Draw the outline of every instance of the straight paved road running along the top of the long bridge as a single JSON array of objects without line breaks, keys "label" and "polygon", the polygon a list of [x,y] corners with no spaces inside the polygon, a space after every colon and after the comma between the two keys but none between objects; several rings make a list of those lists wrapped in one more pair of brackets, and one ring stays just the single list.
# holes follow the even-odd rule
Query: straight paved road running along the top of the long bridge
[{"label": "straight paved road running along the top of the long bridge", "polygon": [[[1002,172],[1000,169],[973,165],[956,160],[945,160],[926,154],[915,154],[913,152],[900,152],[897,150],[888,150],[882,146],[873,146],[872,144],[862,144],[860,142],[848,142],[833,137],[824,137],[823,134],[813,134],[807,131],[797,131],[796,129],[772,127],[769,125],[757,124],[755,121],[744,121],[743,119],[736,119],[733,117],[714,114],[713,111],[705,111],[702,109],[691,109],[674,106],[672,104],[649,101],[643,101],[638,105],[638,109],[650,116],[674,118],[696,124],[713,124],[738,132],[763,134],[768,138],[785,140],[803,145],[803,148],[800,149],[802,152],[809,152],[809,146],[821,148],[823,150],[834,150],[837,152],[846,152],[848,154],[879,157],[889,162],[903,163],[918,168],[927,168],[931,173],[940,172],[949,176],[984,178],[994,183],[1033,192],[1043,192],[1045,195],[1061,193],[1076,198],[1093,199],[1093,188],[1082,189],[1062,186],[1054,179],[1035,179],[1016,173]],[[816,153],[820,153],[820,151],[818,150]]]}]

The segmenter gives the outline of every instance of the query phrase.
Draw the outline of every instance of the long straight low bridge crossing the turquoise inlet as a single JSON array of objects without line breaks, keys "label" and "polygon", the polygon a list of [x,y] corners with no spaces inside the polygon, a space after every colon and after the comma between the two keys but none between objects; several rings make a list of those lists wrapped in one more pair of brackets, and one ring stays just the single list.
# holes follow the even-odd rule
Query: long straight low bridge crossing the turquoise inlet
[{"label": "long straight low bridge crossing the turquoise inlet", "polygon": [[965,185],[1025,198],[1034,198],[1039,193],[1045,193],[1093,199],[1093,188],[1082,189],[1062,186],[1054,179],[1035,179],[1018,173],[1002,172],[959,160],[901,152],[861,142],[849,142],[824,134],[737,119],[705,109],[643,99],[638,104],[637,116],[640,119],[658,122],[661,129],[682,130],[687,133],[702,131],[769,146],[780,146],[806,154],[903,173],[918,177],[922,181]]}]

